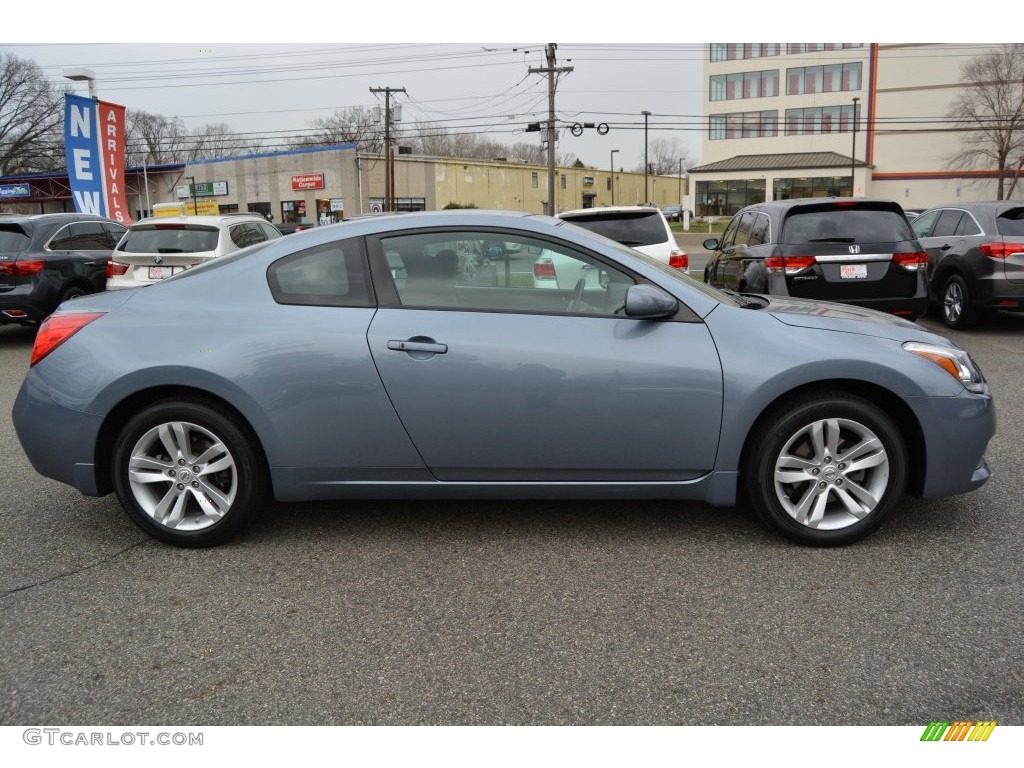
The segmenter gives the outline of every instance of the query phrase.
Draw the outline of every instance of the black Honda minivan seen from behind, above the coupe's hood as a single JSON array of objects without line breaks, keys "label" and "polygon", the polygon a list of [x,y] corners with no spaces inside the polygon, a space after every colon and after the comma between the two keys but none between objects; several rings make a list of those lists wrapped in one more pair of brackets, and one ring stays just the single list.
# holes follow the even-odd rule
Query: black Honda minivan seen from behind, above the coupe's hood
[{"label": "black Honda minivan seen from behind, above the coupe's hood", "polygon": [[717,288],[840,301],[915,319],[928,311],[928,256],[899,204],[810,198],[741,209],[712,251]]}]

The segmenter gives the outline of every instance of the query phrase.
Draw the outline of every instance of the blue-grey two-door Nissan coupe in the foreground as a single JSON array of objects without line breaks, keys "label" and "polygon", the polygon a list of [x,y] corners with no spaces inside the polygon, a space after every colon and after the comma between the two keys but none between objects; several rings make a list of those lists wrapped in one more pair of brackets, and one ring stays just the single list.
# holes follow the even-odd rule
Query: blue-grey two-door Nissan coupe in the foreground
[{"label": "blue-grey two-door Nissan coupe in the foreground", "polygon": [[[538,290],[403,260],[495,241],[604,278]],[[186,547],[269,496],[742,495],[782,536],[848,544],[904,492],[982,485],[995,429],[970,354],[921,326],[724,293],[564,221],[464,210],[317,227],[66,303],[12,418],[39,472],[116,493]]]}]

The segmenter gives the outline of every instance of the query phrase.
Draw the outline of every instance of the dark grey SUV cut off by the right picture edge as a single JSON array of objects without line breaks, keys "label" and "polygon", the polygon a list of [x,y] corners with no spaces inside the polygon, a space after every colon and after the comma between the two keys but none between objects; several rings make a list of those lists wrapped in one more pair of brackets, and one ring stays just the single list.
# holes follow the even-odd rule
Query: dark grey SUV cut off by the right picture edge
[{"label": "dark grey SUV cut off by the right picture edge", "polygon": [[1024,310],[1024,205],[956,203],[911,223],[928,252],[932,298],[949,328],[972,328],[997,309]]}]

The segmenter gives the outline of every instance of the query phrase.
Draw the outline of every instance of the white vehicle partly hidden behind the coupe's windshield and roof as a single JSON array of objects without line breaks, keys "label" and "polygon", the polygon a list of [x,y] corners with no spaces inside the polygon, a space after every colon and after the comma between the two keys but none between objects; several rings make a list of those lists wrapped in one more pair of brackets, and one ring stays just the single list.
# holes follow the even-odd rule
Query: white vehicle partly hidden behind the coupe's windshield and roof
[{"label": "white vehicle partly hidden behind the coupe's windshield and roof", "polygon": [[635,248],[677,269],[689,267],[689,256],[676,244],[669,222],[651,206],[609,206],[563,211],[558,218]]}]

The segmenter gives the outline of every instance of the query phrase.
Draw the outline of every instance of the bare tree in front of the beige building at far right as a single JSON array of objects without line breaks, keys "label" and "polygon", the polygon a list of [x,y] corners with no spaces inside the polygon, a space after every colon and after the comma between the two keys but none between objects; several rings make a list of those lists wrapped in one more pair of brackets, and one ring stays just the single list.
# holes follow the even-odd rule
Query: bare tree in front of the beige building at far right
[{"label": "bare tree in front of the beige building at far right", "polygon": [[1002,45],[961,70],[963,90],[949,117],[961,124],[954,170],[994,168],[996,199],[1013,196],[1024,168],[1024,44]]}]

